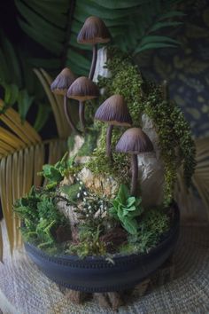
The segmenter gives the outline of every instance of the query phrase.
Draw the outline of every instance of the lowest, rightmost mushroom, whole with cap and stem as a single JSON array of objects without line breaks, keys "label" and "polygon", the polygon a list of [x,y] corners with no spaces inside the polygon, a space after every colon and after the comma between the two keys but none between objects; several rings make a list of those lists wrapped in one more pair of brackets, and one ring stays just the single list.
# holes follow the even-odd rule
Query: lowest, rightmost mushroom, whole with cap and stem
[{"label": "lowest, rightmost mushroom, whole with cap and stem", "polygon": [[148,153],[153,151],[151,139],[143,132],[141,128],[131,128],[126,130],[120,137],[115,147],[117,152],[131,154],[131,195],[137,195],[137,179],[138,179],[138,153]]}]

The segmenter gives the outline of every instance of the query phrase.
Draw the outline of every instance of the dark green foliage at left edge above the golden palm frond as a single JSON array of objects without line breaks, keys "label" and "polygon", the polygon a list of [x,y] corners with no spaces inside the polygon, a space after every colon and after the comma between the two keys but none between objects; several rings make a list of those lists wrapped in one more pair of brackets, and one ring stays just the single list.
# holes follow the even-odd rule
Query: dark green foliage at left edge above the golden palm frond
[{"label": "dark green foliage at left edge above the golden palm frond", "polygon": [[[37,81],[32,67],[28,65],[27,58],[19,47],[15,47],[0,33],[0,86],[4,92],[0,98],[4,98],[4,107],[0,112],[4,112],[9,106],[18,105],[19,114],[22,121],[27,118],[28,111],[32,105],[38,106],[37,116],[39,123],[35,120],[35,127],[40,130],[49,116],[49,105],[43,106],[45,95],[40,92],[41,87]],[[41,100],[41,102],[40,102]]]}]

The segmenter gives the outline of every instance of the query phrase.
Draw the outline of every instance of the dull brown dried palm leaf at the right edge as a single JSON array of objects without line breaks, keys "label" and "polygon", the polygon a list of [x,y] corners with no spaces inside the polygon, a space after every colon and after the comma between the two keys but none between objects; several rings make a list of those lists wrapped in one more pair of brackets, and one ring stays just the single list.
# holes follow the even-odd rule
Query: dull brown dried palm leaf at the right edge
[{"label": "dull brown dried palm leaf at the right edge", "polygon": [[[206,215],[209,219],[209,138],[202,138],[196,140],[196,161],[197,167],[195,174],[192,177],[192,184],[197,190],[203,204],[205,205]],[[177,184],[175,187],[175,200],[182,208],[183,216],[197,217],[197,197],[194,189],[188,191],[184,184],[183,170],[179,170],[177,177]]]}]

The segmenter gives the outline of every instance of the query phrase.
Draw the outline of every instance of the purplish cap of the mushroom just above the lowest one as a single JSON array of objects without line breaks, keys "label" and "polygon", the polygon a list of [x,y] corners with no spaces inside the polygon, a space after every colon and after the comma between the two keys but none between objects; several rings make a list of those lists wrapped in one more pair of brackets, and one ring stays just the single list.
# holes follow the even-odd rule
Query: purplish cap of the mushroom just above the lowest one
[{"label": "purplish cap of the mushroom just above the lowest one", "polygon": [[128,126],[132,125],[132,119],[128,112],[128,106],[121,95],[112,95],[97,108],[95,119],[108,122],[113,125]]}]

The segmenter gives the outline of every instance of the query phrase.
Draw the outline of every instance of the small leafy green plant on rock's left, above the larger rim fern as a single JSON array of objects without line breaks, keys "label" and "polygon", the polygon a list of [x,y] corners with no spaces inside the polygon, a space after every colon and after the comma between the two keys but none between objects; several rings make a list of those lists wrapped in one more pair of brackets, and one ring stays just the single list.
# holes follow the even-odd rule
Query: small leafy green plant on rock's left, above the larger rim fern
[{"label": "small leafy green plant on rock's left, above the larger rim fern", "polygon": [[73,167],[75,156],[71,158],[67,158],[67,156],[68,152],[55,165],[43,165],[43,171],[39,175],[48,180],[48,184],[46,185],[48,189],[56,187],[67,175],[68,169]]}]

